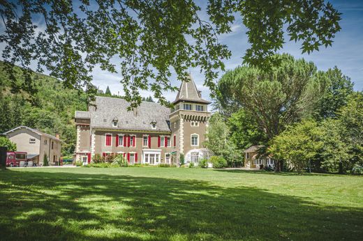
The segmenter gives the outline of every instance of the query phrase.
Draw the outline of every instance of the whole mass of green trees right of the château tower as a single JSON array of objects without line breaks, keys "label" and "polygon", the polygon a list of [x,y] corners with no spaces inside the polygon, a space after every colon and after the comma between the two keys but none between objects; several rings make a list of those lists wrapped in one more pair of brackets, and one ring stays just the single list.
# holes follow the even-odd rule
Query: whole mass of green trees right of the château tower
[{"label": "whole mass of green trees right of the ch\u00e2teau tower", "polygon": [[212,118],[207,134],[215,154],[262,145],[258,153],[272,157],[279,171],[360,173],[362,92],[336,67],[318,72],[289,55],[276,58],[281,65],[272,71],[242,66],[219,81],[218,123]]}]

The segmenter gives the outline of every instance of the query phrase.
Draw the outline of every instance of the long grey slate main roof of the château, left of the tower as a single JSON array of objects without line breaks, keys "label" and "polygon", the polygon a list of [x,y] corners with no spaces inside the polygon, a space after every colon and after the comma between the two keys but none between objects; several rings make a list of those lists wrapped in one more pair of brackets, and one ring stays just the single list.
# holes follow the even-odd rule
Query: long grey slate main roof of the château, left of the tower
[{"label": "long grey slate main roof of the ch\u00e2teau, left of the tower", "polygon": [[[169,126],[170,109],[154,102],[141,102],[140,107],[127,111],[130,104],[120,98],[96,96],[95,107],[89,107],[91,127],[114,130],[146,130],[151,132],[171,132]],[[117,127],[112,120],[117,118]],[[156,129],[151,122],[156,120]]]}]

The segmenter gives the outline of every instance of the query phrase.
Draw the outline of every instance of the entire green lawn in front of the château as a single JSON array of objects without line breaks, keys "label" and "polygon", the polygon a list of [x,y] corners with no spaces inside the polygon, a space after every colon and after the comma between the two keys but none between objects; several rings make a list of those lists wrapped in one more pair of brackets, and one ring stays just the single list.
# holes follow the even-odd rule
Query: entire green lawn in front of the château
[{"label": "entire green lawn in front of the ch\u00e2teau", "polygon": [[363,176],[0,171],[0,240],[362,240]]}]

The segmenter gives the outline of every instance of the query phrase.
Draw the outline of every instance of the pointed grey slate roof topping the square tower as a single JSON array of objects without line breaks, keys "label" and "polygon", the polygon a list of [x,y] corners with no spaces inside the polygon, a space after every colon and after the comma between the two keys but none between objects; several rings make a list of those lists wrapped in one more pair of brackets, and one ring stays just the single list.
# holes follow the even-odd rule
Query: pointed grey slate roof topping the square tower
[{"label": "pointed grey slate roof topping the square tower", "polygon": [[187,81],[182,81],[182,84],[180,85],[177,94],[177,98],[175,98],[172,104],[177,104],[181,101],[210,104],[211,102],[209,102],[208,100],[202,99],[200,91],[198,91],[197,86],[195,86],[193,78],[190,74],[188,75],[187,79]]}]

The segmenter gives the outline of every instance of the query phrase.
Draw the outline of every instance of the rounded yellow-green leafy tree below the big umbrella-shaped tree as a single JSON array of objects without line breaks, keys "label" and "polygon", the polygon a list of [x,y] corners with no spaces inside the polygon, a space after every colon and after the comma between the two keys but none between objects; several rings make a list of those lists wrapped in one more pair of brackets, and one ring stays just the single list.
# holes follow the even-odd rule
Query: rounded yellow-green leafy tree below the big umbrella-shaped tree
[{"label": "rounded yellow-green leafy tree below the big umbrella-shaped tree", "polygon": [[323,146],[320,135],[321,130],[315,121],[303,120],[274,137],[269,152],[274,159],[284,160],[298,173],[302,173]]}]

